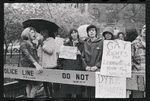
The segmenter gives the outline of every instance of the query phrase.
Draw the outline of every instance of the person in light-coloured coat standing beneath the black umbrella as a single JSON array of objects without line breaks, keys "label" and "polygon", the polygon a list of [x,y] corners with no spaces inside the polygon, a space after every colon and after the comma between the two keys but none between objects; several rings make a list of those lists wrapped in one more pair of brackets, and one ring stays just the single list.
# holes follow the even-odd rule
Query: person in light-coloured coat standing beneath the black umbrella
[{"label": "person in light-coloured coat standing beneath the black umbrella", "polygon": [[[55,36],[51,37],[49,30],[43,30],[40,34],[43,36],[43,43],[41,43],[40,52],[40,63],[43,69],[59,69],[58,54],[55,48]],[[53,98],[54,96],[56,96],[55,93],[60,91],[59,83],[44,82],[43,86],[47,98]]]}]

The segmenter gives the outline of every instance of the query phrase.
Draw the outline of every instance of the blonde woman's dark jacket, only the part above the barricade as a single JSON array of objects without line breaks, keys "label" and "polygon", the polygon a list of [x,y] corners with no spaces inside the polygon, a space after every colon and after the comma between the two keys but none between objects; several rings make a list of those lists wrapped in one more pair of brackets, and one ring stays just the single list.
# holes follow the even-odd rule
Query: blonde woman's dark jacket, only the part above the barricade
[{"label": "blonde woman's dark jacket, only the part above the barricade", "polygon": [[37,50],[32,43],[24,40],[20,45],[21,66],[35,68],[34,62],[38,62]]}]

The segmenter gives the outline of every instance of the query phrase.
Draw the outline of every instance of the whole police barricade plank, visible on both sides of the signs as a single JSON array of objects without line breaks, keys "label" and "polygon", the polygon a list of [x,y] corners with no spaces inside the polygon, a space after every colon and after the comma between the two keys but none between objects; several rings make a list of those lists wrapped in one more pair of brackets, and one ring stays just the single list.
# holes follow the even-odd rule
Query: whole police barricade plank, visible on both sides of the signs
[{"label": "whole police barricade plank, visible on both sides of the signs", "polygon": [[[88,71],[43,69],[37,74],[35,68],[4,66],[4,78],[95,86],[95,72]],[[145,72],[132,72],[132,77],[126,79],[126,89],[145,91]]]}]

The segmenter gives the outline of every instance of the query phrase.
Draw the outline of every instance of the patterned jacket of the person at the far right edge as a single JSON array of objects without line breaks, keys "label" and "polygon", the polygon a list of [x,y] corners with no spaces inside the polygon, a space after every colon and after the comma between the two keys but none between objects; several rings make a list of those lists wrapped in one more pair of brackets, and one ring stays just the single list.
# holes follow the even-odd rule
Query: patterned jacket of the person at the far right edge
[{"label": "patterned jacket of the person at the far right edge", "polygon": [[132,70],[145,70],[146,43],[137,37],[131,44]]}]

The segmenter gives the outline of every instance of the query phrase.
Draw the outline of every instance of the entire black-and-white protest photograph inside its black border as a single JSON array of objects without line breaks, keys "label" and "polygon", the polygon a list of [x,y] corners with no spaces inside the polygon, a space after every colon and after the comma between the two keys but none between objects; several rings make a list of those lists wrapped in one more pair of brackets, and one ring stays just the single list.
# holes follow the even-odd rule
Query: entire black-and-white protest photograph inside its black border
[{"label": "entire black-and-white protest photograph inside its black border", "polygon": [[146,98],[145,3],[4,3],[4,98]]}]

